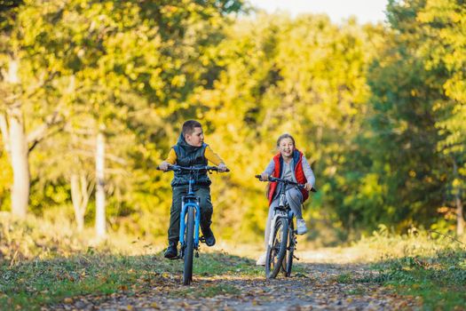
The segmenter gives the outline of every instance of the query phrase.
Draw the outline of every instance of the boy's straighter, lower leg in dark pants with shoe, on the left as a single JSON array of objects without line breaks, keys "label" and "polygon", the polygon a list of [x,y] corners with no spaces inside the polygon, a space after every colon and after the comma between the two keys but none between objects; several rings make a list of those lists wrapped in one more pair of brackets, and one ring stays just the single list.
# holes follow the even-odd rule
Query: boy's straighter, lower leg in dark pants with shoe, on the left
[{"label": "boy's straighter, lower leg in dark pants with shoe, on the left", "polygon": [[169,248],[165,251],[166,258],[175,258],[178,256],[178,241],[179,241],[179,215],[181,213],[181,197],[186,195],[186,187],[172,188],[172,198],[170,207],[170,227]]}]

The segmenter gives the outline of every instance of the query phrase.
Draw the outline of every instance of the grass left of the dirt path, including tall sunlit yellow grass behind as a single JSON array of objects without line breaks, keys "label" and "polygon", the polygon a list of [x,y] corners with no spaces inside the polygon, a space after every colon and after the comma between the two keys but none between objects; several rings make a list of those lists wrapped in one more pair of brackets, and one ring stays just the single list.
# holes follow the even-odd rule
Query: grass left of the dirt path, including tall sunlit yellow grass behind
[{"label": "grass left of the dirt path, including tall sunlit yellow grass behind", "polygon": [[[84,295],[124,292],[131,295],[159,284],[181,283],[183,262],[162,258],[162,247],[110,236],[88,243],[71,224],[44,219],[26,221],[0,214],[0,306],[40,309]],[[92,246],[90,246],[92,245]],[[194,277],[260,275],[254,261],[224,252],[204,252],[194,260]],[[202,295],[233,293],[233,287],[211,286]],[[179,294],[182,294],[180,292]]]}]

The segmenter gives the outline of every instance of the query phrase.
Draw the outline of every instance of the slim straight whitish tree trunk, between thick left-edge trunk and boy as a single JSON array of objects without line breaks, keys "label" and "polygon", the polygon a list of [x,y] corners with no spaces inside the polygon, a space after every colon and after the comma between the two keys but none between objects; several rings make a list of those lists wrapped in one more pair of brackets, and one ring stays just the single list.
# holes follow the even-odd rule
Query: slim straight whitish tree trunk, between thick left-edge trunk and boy
[{"label": "slim straight whitish tree trunk, between thick left-edge trunk and boy", "polygon": [[99,132],[96,144],[96,234],[98,237],[106,235],[106,206],[105,206],[105,139]]}]

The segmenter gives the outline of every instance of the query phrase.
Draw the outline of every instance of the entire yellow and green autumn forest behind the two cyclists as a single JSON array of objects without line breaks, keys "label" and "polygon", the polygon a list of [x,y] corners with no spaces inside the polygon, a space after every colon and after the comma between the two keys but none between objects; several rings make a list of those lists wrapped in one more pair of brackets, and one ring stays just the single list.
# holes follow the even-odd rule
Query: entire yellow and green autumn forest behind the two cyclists
[{"label": "entire yellow and green autumn forest behind the two cyclists", "polygon": [[307,239],[377,227],[464,232],[466,4],[389,1],[386,21],[256,12],[241,0],[0,2],[0,209],[162,241],[171,173],[197,119],[216,235],[259,242],[254,175],[288,132],[312,163]]}]

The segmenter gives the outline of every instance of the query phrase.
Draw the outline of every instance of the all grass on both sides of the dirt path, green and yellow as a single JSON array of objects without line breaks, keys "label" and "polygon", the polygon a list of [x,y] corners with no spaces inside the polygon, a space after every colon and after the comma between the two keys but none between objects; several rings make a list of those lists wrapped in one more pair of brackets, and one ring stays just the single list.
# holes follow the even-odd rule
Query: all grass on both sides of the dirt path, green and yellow
[{"label": "all grass on both sides of the dirt path, green and yellow", "polygon": [[[194,277],[208,281],[202,287],[186,288],[179,286],[182,261],[163,259],[161,249],[150,244],[118,236],[90,246],[85,234],[77,235],[68,225],[1,216],[0,306],[6,310],[40,309],[90,294],[132,295],[165,285],[172,286],[174,297],[236,295],[241,288],[208,278],[264,275],[264,268],[256,267],[244,254],[202,249],[194,260]],[[421,298],[427,310],[464,310],[466,247],[461,241],[417,230],[392,235],[383,228],[334,254],[338,251],[358,254],[352,262],[368,262],[372,269],[362,278],[351,273],[336,276],[337,283],[359,284],[349,294],[364,292],[364,283],[378,283],[401,295]],[[305,276],[306,267],[296,263],[293,275]]]}]

